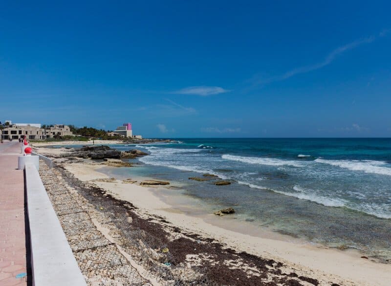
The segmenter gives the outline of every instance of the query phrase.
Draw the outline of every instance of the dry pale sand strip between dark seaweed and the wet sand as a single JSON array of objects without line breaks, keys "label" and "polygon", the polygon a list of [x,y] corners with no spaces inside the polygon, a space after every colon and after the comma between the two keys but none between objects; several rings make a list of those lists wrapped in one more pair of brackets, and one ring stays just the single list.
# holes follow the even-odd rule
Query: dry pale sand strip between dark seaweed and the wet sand
[{"label": "dry pale sand strip between dark seaweed and the wet sand", "polygon": [[[86,175],[86,171],[81,170],[83,167],[80,165],[68,165],[65,168],[81,180],[102,178],[105,175],[100,173],[99,169],[92,170],[91,167],[87,168],[88,175]],[[310,273],[312,277],[315,276],[320,281],[332,278],[334,281],[339,281],[341,285],[352,283],[352,285],[384,286],[389,285],[391,281],[391,265],[362,259],[360,253],[355,251],[342,252],[325,249],[322,246],[264,238],[265,235],[261,232],[250,236],[222,228],[221,225],[225,223],[221,223],[221,219],[215,215],[207,215],[205,218],[185,215],[174,205],[167,204],[159,198],[159,189],[163,187],[152,189],[136,184],[121,184],[120,181],[95,182],[95,184],[107,190],[114,197],[133,203],[145,213],[164,216],[175,226],[214,238],[234,249],[277,261],[283,260],[296,272],[306,275]],[[231,224],[230,228],[236,227]]]}]

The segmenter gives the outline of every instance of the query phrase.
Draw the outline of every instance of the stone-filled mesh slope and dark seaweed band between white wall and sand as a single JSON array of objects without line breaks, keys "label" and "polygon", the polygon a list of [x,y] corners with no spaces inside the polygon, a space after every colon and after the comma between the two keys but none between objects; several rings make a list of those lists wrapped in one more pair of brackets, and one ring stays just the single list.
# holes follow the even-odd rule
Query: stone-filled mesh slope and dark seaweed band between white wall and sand
[{"label": "stone-filled mesh slope and dark seaweed band between white wall and sand", "polygon": [[189,233],[54,165],[40,174],[88,285],[338,285]]}]

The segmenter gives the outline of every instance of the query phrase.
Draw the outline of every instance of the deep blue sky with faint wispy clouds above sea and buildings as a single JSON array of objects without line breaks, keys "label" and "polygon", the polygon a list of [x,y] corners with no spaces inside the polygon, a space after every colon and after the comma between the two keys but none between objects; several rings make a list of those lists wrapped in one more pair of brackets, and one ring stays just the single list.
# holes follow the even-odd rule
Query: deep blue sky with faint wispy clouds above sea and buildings
[{"label": "deep blue sky with faint wispy clouds above sea and buildings", "polygon": [[389,1],[7,1],[0,120],[391,137]]}]

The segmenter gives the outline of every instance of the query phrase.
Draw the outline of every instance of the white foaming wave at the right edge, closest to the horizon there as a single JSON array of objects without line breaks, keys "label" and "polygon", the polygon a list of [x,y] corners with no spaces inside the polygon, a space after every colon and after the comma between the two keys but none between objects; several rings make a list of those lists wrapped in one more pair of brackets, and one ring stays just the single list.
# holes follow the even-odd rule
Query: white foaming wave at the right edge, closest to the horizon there
[{"label": "white foaming wave at the right edge, closest to the horizon there", "polygon": [[391,176],[391,168],[383,167],[386,162],[370,160],[326,160],[315,159],[314,162],[328,164],[331,166],[346,168],[352,171],[364,171],[366,173]]}]

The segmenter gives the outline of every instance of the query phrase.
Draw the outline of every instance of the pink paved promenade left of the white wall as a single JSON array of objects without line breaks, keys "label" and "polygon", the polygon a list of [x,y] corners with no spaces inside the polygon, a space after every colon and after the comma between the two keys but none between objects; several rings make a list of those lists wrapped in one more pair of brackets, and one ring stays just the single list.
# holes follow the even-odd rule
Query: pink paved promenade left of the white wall
[{"label": "pink paved promenade left of the white wall", "polygon": [[24,181],[23,171],[16,169],[20,151],[17,141],[0,144],[1,286],[27,285]]}]

